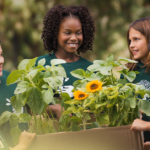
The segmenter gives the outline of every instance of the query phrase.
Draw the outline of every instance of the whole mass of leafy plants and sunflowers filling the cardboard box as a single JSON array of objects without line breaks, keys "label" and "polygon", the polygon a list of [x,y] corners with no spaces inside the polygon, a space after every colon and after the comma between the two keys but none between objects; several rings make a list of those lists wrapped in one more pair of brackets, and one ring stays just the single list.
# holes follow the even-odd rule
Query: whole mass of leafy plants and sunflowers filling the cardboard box
[{"label": "whole mass of leafy plants and sunflowers filling the cardboard box", "polygon": [[[0,116],[0,125],[10,122],[15,143],[21,133],[18,128],[20,122],[28,122],[29,132],[46,134],[86,130],[87,126],[96,128],[131,124],[139,117],[139,110],[150,115],[150,102],[142,99],[145,94],[150,95],[150,91],[131,83],[138,72],[129,71],[121,63],[136,61],[125,58],[114,61],[113,55],[110,55],[106,61],[95,60],[87,71],[72,71],[71,74],[79,80],[73,83],[74,99],[71,100],[67,93],[61,91],[66,72],[60,64],[65,61],[53,59],[51,66],[45,66],[45,59],[35,65],[36,59],[23,60],[18,70],[13,71],[7,79],[8,85],[17,83],[15,96],[11,98],[16,112],[19,113],[21,107],[27,104],[32,113],[32,116],[26,113],[16,115],[6,111]],[[119,73],[124,79],[116,77],[113,72],[115,67],[120,68]],[[59,99],[54,98],[54,94],[59,94]],[[46,112],[49,103],[59,103],[64,107],[59,121],[54,119],[52,113],[53,119],[49,118]],[[96,122],[91,121],[91,114],[94,114]]]}]

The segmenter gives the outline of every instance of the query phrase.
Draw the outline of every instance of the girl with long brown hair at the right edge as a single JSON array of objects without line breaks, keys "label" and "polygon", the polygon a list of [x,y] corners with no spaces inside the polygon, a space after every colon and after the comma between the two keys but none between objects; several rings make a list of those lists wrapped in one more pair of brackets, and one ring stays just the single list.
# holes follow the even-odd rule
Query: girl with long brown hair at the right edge
[{"label": "girl with long brown hair at the right edge", "polygon": [[[127,42],[130,59],[138,61],[137,64],[127,65],[130,70],[139,72],[133,82],[150,90],[150,17],[131,23],[127,31]],[[150,98],[145,95],[145,100],[150,101]],[[150,121],[150,117],[143,114],[142,120]],[[150,132],[144,132],[144,141],[150,141]]]}]

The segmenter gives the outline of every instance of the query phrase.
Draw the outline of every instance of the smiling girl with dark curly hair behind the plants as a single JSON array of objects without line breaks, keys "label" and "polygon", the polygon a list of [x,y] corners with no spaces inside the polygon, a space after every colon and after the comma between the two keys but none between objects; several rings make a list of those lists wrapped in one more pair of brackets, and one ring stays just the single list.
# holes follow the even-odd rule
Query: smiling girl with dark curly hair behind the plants
[{"label": "smiling girl with dark curly hair behind the plants", "polygon": [[[86,70],[92,64],[79,54],[93,50],[94,21],[85,6],[57,5],[47,12],[43,23],[42,40],[44,49],[49,54],[39,57],[37,62],[45,58],[45,65],[51,65],[51,59],[65,60],[67,63],[62,66],[66,71],[67,79],[64,79],[62,91],[73,97],[72,84],[77,78],[70,72],[79,68]],[[61,117],[61,105],[48,106],[47,113],[51,116],[49,109],[57,119]]]}]

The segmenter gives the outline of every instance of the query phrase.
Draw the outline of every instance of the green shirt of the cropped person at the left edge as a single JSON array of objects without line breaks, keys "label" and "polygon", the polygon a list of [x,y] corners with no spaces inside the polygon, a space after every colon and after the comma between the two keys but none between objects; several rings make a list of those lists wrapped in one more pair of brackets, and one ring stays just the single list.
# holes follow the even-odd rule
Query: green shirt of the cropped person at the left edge
[{"label": "green shirt of the cropped person at the left edge", "polygon": [[[15,109],[11,105],[10,98],[14,96],[14,90],[16,88],[16,84],[11,84],[9,86],[6,85],[6,79],[9,75],[9,72],[6,70],[3,70],[3,75],[0,77],[0,115],[4,111],[10,111],[12,113],[16,113]],[[20,113],[23,113],[23,108]],[[19,124],[19,128],[23,130],[27,130],[27,124]],[[9,122],[6,122],[0,126],[0,131],[4,135],[6,141],[10,146],[14,146],[12,142],[12,137],[10,135],[10,124]]]}]

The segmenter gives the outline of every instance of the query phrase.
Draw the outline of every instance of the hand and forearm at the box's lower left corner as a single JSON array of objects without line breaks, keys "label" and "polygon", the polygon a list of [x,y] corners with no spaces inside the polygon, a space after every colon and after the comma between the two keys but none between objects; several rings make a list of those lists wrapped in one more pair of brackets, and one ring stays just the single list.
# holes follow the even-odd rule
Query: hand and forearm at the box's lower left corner
[{"label": "hand and forearm at the box's lower left corner", "polygon": [[10,148],[10,150],[26,150],[33,142],[35,136],[35,133],[23,131],[19,137],[18,145],[16,145],[14,148]]}]

